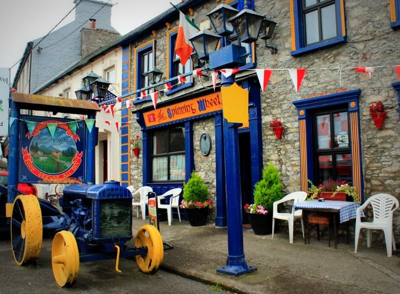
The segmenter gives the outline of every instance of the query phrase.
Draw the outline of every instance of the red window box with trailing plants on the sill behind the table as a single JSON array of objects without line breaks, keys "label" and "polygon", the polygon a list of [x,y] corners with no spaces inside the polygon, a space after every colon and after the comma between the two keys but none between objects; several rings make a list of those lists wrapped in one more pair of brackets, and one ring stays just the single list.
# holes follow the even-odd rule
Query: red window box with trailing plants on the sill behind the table
[{"label": "red window box with trailing plants on the sill behind the table", "polygon": [[323,198],[324,200],[353,201],[360,203],[357,191],[353,186],[347,184],[346,181],[332,180],[332,178],[329,178],[318,186],[315,186],[309,179],[307,181],[310,184],[308,188],[308,200]]}]

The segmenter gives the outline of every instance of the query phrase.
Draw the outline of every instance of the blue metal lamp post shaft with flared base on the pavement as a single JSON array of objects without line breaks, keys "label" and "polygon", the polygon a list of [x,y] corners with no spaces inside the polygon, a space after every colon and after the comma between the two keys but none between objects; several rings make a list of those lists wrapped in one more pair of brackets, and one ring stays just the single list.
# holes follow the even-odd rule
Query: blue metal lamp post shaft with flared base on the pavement
[{"label": "blue metal lamp post shaft with flared base on the pavement", "polygon": [[[222,75],[221,86],[230,86],[234,81],[234,76],[225,78]],[[225,167],[229,166],[229,168],[225,168],[228,256],[226,259],[226,266],[216,269],[217,272],[235,276],[257,269],[256,267],[247,266],[244,259],[240,195],[240,159],[237,130],[239,126],[241,126],[241,124],[228,123],[226,119],[223,119]]]}]

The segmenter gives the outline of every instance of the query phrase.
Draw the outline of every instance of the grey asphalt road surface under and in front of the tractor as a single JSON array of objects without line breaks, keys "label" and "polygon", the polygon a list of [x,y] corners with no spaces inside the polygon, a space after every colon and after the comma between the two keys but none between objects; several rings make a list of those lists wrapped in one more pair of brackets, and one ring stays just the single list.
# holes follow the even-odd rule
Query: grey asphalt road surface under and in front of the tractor
[{"label": "grey asphalt road surface under and in front of the tractor", "polygon": [[[115,271],[113,259],[80,262],[79,275],[72,288],[60,288],[51,269],[52,239],[43,239],[43,249],[36,264],[18,266],[13,259],[10,241],[0,239],[0,293],[215,293],[210,285],[162,270],[143,274],[136,262],[119,260]],[[220,291],[218,293],[227,293]]]}]

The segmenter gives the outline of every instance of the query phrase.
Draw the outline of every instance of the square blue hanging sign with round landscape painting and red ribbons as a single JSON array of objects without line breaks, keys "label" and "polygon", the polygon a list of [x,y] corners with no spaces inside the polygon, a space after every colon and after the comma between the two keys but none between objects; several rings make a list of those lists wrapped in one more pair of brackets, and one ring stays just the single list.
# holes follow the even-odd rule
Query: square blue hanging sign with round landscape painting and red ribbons
[{"label": "square blue hanging sign with round landscape painting and red ribbons", "polygon": [[85,162],[84,121],[21,116],[19,182],[56,183],[82,175]]}]

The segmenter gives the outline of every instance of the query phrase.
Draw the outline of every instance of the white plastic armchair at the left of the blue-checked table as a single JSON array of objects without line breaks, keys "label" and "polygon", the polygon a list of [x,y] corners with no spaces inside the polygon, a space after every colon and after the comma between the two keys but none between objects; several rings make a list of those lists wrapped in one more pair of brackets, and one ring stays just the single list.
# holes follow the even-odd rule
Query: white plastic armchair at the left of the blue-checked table
[{"label": "white plastic armchair at the left of the blue-checked table", "polygon": [[300,201],[304,201],[306,197],[307,197],[307,193],[305,193],[303,191],[297,191],[297,192],[292,192],[290,194],[287,194],[282,199],[273,202],[272,238],[273,238],[273,231],[275,228],[275,218],[287,220],[287,223],[289,226],[289,243],[293,243],[294,219],[299,218],[301,221],[301,230],[303,232],[303,238],[304,238],[304,223],[303,223],[303,219],[302,219],[302,210],[301,209],[295,210],[294,213],[293,212],[291,212],[291,213],[278,212],[278,204],[281,204],[283,202],[288,202],[288,201],[293,201],[293,203],[297,203]]}]

